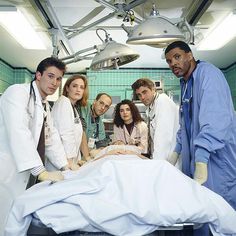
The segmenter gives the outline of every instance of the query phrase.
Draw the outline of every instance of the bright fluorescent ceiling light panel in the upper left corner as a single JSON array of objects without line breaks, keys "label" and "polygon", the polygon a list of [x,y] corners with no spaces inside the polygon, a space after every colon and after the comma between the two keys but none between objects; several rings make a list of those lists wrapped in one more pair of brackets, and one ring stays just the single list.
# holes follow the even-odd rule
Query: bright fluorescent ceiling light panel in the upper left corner
[{"label": "bright fluorescent ceiling light panel in the upper left corner", "polygon": [[14,6],[0,7],[0,25],[26,49],[46,49],[40,36],[35,32],[22,12]]}]

